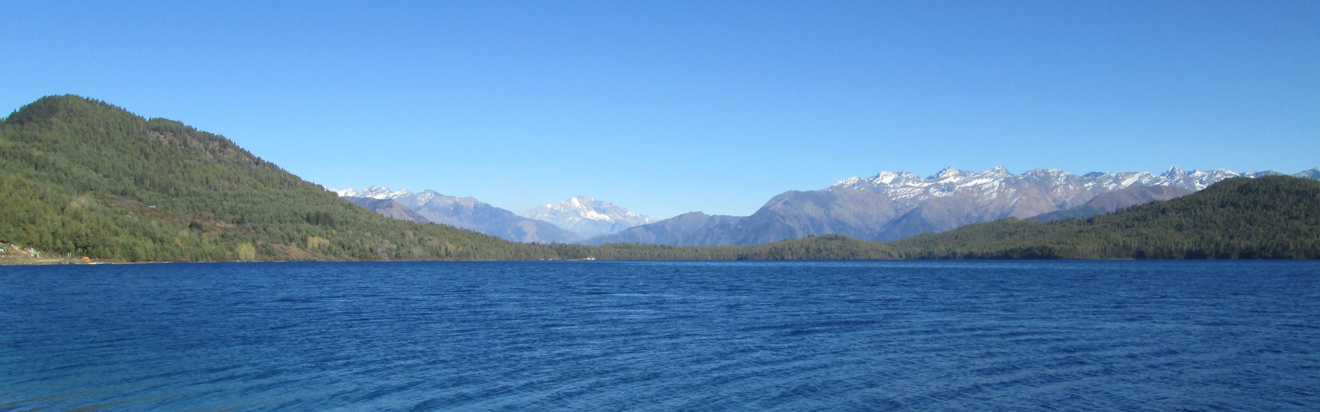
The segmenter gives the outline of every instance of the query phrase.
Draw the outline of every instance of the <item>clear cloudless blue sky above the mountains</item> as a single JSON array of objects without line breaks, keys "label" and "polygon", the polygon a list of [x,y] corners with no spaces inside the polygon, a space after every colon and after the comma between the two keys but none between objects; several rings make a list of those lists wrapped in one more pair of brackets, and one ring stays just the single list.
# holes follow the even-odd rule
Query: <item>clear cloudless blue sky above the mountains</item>
[{"label": "clear cloudless blue sky above the mountains", "polygon": [[91,96],[327,188],[519,213],[746,215],[950,165],[1320,166],[1320,1],[434,3],[3,1],[0,107]]}]

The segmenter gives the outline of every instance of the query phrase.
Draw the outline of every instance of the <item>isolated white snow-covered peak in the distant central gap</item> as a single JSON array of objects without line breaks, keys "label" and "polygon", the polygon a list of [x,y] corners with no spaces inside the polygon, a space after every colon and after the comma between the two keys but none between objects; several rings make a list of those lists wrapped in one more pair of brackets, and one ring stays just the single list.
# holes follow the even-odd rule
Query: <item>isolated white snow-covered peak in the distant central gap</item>
[{"label": "isolated white snow-covered peak in the distant central gap", "polygon": [[573,231],[582,238],[607,235],[628,227],[660,222],[660,219],[636,214],[587,195],[532,207],[524,211],[523,217],[554,223],[554,226]]}]

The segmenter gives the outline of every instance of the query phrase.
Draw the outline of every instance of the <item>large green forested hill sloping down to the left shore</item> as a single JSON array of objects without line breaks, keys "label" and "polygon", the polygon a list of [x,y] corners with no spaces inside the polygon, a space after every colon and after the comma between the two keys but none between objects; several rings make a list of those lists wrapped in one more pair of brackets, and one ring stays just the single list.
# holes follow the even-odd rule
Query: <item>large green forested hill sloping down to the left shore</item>
[{"label": "large green forested hill sloping down to the left shore", "polygon": [[98,259],[574,258],[388,219],[222,136],[74,95],[0,123],[0,240]]}]

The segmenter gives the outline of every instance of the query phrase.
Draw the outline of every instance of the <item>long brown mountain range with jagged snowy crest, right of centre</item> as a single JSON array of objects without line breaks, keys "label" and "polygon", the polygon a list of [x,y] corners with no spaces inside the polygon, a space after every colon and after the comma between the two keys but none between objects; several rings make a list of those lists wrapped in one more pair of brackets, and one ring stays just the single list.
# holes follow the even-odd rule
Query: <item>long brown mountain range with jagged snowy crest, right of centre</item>
[{"label": "long brown mountain range with jagged snowy crest, right of centre", "polygon": [[[1014,174],[1002,166],[983,172],[946,168],[925,178],[909,172],[880,172],[845,178],[822,190],[785,191],[750,217],[688,213],[581,243],[733,246],[825,234],[887,242],[1010,217],[1088,217],[1185,195],[1225,178],[1275,174],[1282,173],[1187,172],[1177,166],[1158,176],[1148,172],[1077,176],[1059,169]],[[1295,176],[1316,178],[1320,169]],[[1101,197],[1106,193],[1113,194]]]}]

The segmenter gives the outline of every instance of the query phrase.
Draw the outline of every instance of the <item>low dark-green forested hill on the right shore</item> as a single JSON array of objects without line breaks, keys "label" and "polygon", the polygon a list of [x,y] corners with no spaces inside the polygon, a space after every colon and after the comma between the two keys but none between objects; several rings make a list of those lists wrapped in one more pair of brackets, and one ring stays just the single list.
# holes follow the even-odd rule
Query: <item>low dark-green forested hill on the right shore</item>
[{"label": "low dark-green forested hill on the right shore", "polygon": [[892,243],[904,259],[1320,259],[1320,181],[1230,178],[1086,219],[1001,219]]}]

